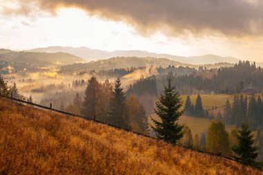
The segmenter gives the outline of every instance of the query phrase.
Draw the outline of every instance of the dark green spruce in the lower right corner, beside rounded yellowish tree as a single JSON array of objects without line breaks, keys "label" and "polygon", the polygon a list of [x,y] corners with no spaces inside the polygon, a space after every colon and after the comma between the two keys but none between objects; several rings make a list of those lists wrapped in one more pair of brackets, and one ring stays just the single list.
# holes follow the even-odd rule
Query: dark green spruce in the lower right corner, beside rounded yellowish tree
[{"label": "dark green spruce in the lower right corner, beside rounded yellowish tree", "polygon": [[260,167],[260,163],[255,162],[258,147],[254,146],[255,140],[248,124],[242,123],[241,129],[238,130],[238,144],[234,145],[233,151],[238,155],[234,158],[244,165]]}]

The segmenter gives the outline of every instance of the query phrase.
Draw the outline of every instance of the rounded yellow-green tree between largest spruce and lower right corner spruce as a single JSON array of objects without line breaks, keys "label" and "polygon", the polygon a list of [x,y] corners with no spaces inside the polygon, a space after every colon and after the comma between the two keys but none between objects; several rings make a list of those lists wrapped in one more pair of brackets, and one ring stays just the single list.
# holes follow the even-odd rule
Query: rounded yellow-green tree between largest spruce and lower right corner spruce
[{"label": "rounded yellow-green tree between largest spruce and lower right corner spruce", "polygon": [[221,151],[224,156],[231,156],[228,133],[221,121],[212,122],[206,137],[206,148],[210,151]]}]

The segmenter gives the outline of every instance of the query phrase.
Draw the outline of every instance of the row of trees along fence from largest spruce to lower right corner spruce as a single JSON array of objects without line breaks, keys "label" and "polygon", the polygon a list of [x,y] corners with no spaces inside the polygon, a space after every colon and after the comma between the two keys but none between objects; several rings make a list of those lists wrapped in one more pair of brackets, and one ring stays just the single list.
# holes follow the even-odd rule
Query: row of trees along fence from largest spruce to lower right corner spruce
[{"label": "row of trees along fence from largest spruce to lower right corner spruce", "polygon": [[[164,86],[163,94],[159,95],[154,109],[161,121],[152,118],[152,122],[154,122],[152,129],[161,140],[172,144],[181,143],[185,147],[198,148],[200,146],[199,142],[201,142],[198,136],[192,138],[190,128],[179,125],[178,120],[183,114],[183,111],[180,110],[182,102],[179,92],[172,86],[171,75],[168,75],[167,83],[167,86]],[[262,169],[263,163],[255,161],[258,156],[258,147],[254,145],[255,139],[248,124],[243,123],[242,127],[235,133],[236,142],[231,150],[228,132],[223,122],[220,120],[212,122],[208,129],[204,148],[208,151],[220,152],[224,156],[230,157],[234,154],[235,160],[240,163]],[[201,139],[203,142],[203,138]]]}]

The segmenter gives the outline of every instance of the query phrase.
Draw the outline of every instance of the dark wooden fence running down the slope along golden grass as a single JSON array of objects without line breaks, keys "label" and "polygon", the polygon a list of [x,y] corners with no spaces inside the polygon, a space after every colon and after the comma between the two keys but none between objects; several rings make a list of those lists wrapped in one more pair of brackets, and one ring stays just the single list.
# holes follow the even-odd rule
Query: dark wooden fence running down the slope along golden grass
[{"label": "dark wooden fence running down the slope along golden grass", "polygon": [[[136,131],[132,131],[131,127],[129,127],[129,129],[126,129],[126,128],[122,128],[122,127],[118,127],[116,125],[111,125],[107,122],[102,122],[100,120],[96,120],[95,116],[94,117],[91,117],[91,118],[87,118],[87,117],[84,117],[84,116],[80,116],[80,115],[76,115],[76,114],[73,114],[73,113],[68,113],[68,112],[65,112],[65,111],[60,111],[60,110],[57,110],[57,109],[53,109],[52,108],[52,104],[50,105],[50,107],[45,107],[45,106],[42,106],[42,105],[39,105],[39,104],[35,104],[33,102],[27,102],[25,100],[20,100],[20,99],[17,99],[17,98],[12,98],[12,97],[8,97],[8,96],[3,96],[3,95],[0,95],[1,98],[7,98],[9,100],[12,100],[12,102],[16,102],[18,104],[22,104],[24,106],[26,106],[27,104],[30,106],[30,107],[34,107],[36,109],[46,109],[46,110],[49,110],[49,111],[55,111],[57,113],[62,113],[62,114],[65,114],[67,116],[71,116],[71,117],[77,117],[77,118],[82,118],[84,120],[91,120],[93,122],[98,122],[98,123],[101,123],[101,124],[104,124],[104,125],[108,125],[110,127],[114,127],[116,129],[121,129],[121,130],[125,130],[125,131],[129,131],[129,132],[132,132],[132,133],[135,133],[136,135],[138,136],[144,136],[144,137],[147,137],[147,138],[153,138],[153,139],[157,139],[157,138],[154,138],[152,136],[148,136],[148,135],[145,135],[143,133],[139,133],[139,132],[136,132]],[[190,149],[190,150],[193,150],[193,151],[198,151],[200,153],[203,153],[203,154],[209,154],[209,155],[212,155],[212,156],[218,156],[220,158],[226,158],[228,160],[234,160],[236,161],[235,159],[233,158],[229,158],[229,157],[226,157],[226,156],[222,156],[221,155],[221,152],[218,152],[218,153],[212,153],[212,152],[208,152],[208,151],[202,151],[202,150],[199,150],[199,149],[193,149],[193,148],[190,148],[190,147],[185,147],[185,146],[182,146],[182,145],[179,145],[181,147],[184,147],[185,149]]]}]

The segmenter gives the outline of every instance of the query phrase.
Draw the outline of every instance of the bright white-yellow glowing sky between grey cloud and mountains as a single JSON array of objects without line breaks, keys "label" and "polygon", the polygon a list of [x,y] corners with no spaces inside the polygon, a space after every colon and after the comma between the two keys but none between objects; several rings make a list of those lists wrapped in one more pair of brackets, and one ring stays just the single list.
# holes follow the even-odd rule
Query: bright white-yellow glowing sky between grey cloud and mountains
[{"label": "bright white-yellow glowing sky between grey cloud and mountains", "polygon": [[[17,5],[12,6],[15,8]],[[125,22],[89,15],[79,8],[60,8],[56,15],[42,12],[35,16],[4,15],[0,9],[0,25],[0,48],[12,50],[87,46],[109,51],[145,50],[181,56],[215,54],[262,62],[260,55],[263,51],[260,48],[263,42],[260,39],[167,37],[161,31],[145,37]]]}]

